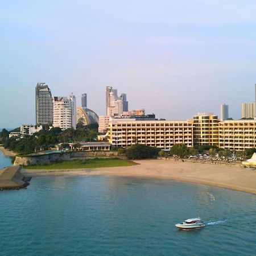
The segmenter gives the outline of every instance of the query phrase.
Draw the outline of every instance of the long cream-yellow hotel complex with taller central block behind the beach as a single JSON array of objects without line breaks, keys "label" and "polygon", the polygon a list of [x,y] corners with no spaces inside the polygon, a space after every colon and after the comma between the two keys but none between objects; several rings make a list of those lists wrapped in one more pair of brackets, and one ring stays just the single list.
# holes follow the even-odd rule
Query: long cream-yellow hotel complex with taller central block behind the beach
[{"label": "long cream-yellow hotel complex with taller central block behind the beach", "polygon": [[184,143],[241,151],[256,147],[256,120],[221,121],[209,113],[199,113],[188,121],[123,119],[109,123],[108,138],[117,147],[141,143],[170,150],[174,144]]}]

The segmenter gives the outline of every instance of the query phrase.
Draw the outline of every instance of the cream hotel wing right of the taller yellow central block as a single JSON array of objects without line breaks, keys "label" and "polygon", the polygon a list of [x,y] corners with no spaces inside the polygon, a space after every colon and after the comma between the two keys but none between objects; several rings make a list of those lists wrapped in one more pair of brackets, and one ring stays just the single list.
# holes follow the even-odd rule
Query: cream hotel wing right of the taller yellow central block
[{"label": "cream hotel wing right of the taller yellow central block", "polygon": [[218,147],[237,151],[256,147],[256,120],[228,120],[218,125]]}]

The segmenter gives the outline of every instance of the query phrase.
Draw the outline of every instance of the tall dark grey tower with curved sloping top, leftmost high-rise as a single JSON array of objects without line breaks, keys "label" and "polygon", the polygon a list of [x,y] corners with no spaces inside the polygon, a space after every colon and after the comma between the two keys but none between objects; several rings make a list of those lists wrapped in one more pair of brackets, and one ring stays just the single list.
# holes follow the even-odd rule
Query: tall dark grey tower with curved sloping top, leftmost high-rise
[{"label": "tall dark grey tower with curved sloping top, leftmost high-rise", "polygon": [[36,85],[36,125],[52,125],[53,102],[48,85],[38,82]]}]

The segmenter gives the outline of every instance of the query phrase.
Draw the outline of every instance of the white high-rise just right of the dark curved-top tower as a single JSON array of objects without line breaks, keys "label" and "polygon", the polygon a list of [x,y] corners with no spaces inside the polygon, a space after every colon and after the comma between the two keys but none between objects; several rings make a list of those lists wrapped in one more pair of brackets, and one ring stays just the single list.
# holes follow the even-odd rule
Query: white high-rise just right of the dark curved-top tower
[{"label": "white high-rise just right of the dark curved-top tower", "polygon": [[76,129],[76,97],[53,98],[53,127],[60,127],[62,130]]}]

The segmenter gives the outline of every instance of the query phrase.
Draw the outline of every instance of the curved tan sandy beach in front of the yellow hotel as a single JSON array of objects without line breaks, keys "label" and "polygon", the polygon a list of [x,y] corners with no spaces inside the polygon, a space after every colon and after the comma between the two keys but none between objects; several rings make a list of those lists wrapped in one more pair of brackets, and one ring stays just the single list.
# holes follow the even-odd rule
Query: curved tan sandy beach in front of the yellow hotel
[{"label": "curved tan sandy beach in front of the yellow hotel", "polygon": [[174,160],[136,160],[139,165],[72,170],[26,170],[26,176],[115,175],[172,179],[256,194],[256,171],[225,164],[203,164]]}]

